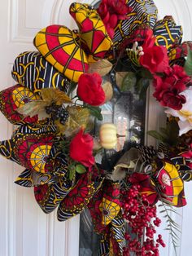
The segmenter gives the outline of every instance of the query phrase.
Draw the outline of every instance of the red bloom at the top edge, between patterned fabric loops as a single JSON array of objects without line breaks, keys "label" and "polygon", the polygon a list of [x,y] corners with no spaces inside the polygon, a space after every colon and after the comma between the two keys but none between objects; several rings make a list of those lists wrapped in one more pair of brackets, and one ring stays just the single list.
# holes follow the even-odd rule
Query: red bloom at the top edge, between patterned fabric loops
[{"label": "red bloom at the top edge, between patterned fabric loops", "polygon": [[114,29],[118,24],[118,20],[128,19],[127,14],[131,10],[132,8],[126,4],[126,0],[103,0],[100,3],[97,11],[111,38],[114,37]]}]

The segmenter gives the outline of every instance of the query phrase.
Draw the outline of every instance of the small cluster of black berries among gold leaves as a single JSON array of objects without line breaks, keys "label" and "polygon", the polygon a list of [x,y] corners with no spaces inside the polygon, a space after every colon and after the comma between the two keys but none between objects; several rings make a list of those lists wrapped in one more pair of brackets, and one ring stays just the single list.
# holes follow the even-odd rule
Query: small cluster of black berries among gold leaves
[{"label": "small cluster of black berries among gold leaves", "polygon": [[46,113],[51,115],[53,121],[58,120],[62,125],[68,120],[69,114],[63,105],[57,105],[52,103],[50,106],[46,106]]}]

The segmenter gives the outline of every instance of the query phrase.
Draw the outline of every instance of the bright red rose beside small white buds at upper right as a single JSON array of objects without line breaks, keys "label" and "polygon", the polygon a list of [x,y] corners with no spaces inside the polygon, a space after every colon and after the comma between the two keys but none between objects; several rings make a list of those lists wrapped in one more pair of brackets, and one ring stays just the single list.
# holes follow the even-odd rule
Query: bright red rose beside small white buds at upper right
[{"label": "bright red rose beside small white buds at upper right", "polygon": [[[147,42],[147,44],[150,44],[150,42]],[[143,51],[144,55],[139,59],[143,67],[147,68],[152,74],[168,72],[168,52],[164,46],[145,47],[144,43]]]}]

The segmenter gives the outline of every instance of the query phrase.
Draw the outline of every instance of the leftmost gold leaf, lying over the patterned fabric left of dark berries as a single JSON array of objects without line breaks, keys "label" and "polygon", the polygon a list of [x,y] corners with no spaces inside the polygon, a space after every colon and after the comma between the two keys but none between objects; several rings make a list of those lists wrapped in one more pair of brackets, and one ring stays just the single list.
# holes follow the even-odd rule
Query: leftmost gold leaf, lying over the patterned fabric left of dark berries
[{"label": "leftmost gold leaf, lying over the patterned fabric left of dark berries", "polygon": [[17,108],[16,111],[24,117],[33,117],[40,112],[45,112],[46,102],[41,99],[33,100],[28,104],[24,104],[22,107]]}]

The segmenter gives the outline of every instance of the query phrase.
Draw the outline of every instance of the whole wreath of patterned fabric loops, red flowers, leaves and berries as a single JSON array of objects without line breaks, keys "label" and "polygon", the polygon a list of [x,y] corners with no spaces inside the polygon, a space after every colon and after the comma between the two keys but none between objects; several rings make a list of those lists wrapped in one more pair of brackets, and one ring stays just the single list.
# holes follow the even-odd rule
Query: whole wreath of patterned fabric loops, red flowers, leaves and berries
[{"label": "whole wreath of patterned fabric loops, red flowers, leaves and berries", "polygon": [[[41,29],[37,51],[15,59],[17,84],[1,91],[0,108],[17,128],[0,153],[24,166],[15,183],[33,187],[46,214],[58,208],[65,221],[89,210],[99,255],[159,255],[156,204],[176,246],[170,212],[186,204],[184,183],[192,179],[192,43],[181,43],[172,16],[157,20],[152,0],[75,2],[69,12],[78,29]],[[159,146],[135,135],[117,152],[120,135],[113,123],[101,124],[101,106],[116,92],[136,91],[143,103],[150,84],[168,114],[166,127],[148,131]]]}]

